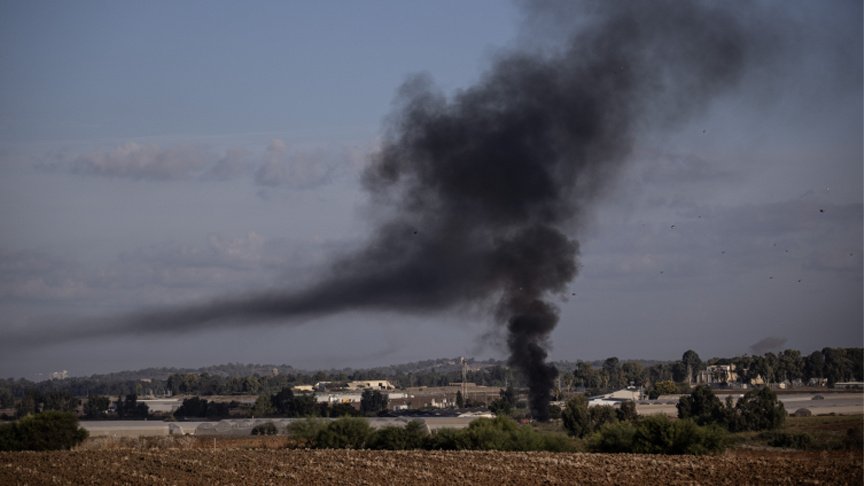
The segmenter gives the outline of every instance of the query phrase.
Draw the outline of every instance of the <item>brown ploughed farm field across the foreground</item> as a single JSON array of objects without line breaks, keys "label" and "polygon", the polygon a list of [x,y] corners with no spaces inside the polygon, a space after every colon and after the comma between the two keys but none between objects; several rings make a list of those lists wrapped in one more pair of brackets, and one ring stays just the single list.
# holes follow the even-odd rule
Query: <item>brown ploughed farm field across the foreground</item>
[{"label": "brown ploughed farm field across the foreground", "polygon": [[857,485],[864,473],[860,451],[738,449],[700,457],[305,450],[277,448],[278,440],[248,441],[214,440],[210,449],[208,441],[196,440],[174,449],[3,452],[0,484]]}]

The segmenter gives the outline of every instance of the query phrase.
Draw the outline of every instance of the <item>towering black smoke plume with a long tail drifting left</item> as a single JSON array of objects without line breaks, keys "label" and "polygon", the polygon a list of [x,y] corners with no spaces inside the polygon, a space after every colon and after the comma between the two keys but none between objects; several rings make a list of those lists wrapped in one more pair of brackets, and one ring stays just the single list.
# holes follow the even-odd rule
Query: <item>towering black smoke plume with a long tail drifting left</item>
[{"label": "towering black smoke plume with a long tail drifting left", "polygon": [[529,379],[532,415],[548,418],[556,376],[546,362],[548,336],[558,321],[550,298],[577,273],[579,247],[570,233],[640,127],[681,122],[734,86],[756,45],[741,17],[712,4],[583,7],[526,4],[532,18],[564,25],[567,41],[499,56],[478,85],[452,97],[425,76],[402,86],[364,177],[395,215],[316,285],[77,332],[175,332],[357,309],[486,305],[507,331],[510,364]]}]

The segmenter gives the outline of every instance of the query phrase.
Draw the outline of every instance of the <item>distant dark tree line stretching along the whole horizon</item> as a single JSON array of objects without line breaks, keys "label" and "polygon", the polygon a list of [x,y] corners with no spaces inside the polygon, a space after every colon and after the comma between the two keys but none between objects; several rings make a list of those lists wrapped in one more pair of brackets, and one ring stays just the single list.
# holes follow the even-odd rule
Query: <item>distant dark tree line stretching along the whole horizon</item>
[{"label": "distant dark tree line stretching along the whole horizon", "polygon": [[[498,386],[501,388],[522,388],[526,385],[524,377],[514,373],[503,363],[472,362],[473,368],[468,371],[468,381],[479,385]],[[732,358],[712,358],[702,361],[699,355],[688,350],[680,360],[667,362],[645,362],[637,360],[619,360],[610,357],[600,362],[589,363],[559,363],[560,389],[555,390],[557,397],[567,396],[566,392],[583,391],[588,395],[600,394],[626,386],[642,387],[649,396],[662,394],[686,393],[691,385],[696,384],[699,372],[709,365],[734,364],[738,381],[747,383],[754,378],[761,378],[766,383],[787,382],[791,384],[808,384],[824,382],[831,386],[843,381],[864,381],[864,353],[862,348],[824,348],[802,355],[797,350],[787,349],[780,353],[765,353],[764,355],[744,355]],[[278,402],[272,403],[270,397],[285,396],[283,390],[297,384],[314,384],[330,382],[334,386],[352,380],[388,379],[399,387],[438,386],[447,385],[462,380],[461,368],[455,360],[429,360],[424,362],[398,365],[370,370],[330,370],[316,372],[298,372],[290,367],[279,367],[278,374],[253,374],[240,376],[237,373],[255,371],[261,372],[273,369],[265,365],[227,364],[207,368],[213,373],[190,373],[171,369],[152,369],[141,372],[123,372],[111,375],[94,375],[89,378],[68,378],[64,380],[48,380],[32,382],[23,379],[0,379],[0,408],[14,409],[14,413],[6,412],[7,418],[22,417],[44,411],[75,411],[82,406],[84,397],[97,400],[87,400],[83,406],[88,417],[105,416],[104,406],[107,398],[165,396],[165,395],[258,395],[265,396],[268,407],[276,414],[286,415],[294,412],[285,411]],[[284,372],[282,372],[284,371]],[[147,380],[136,379],[141,373],[153,373],[154,377]],[[458,399],[458,397],[457,397]],[[503,400],[503,401],[501,401]],[[493,407],[514,407],[515,398],[502,397]],[[283,400],[284,403],[285,402]],[[262,404],[256,403],[258,410],[268,410]],[[299,402],[298,402],[299,403]],[[464,406],[468,403],[463,397]],[[97,406],[98,405],[98,406]],[[260,405],[260,406],[259,406]],[[127,414],[123,408],[118,410]],[[306,405],[298,405],[304,410]],[[225,411],[219,409],[218,416]],[[283,408],[280,411],[280,407]],[[338,414],[344,415],[346,409],[336,407]],[[209,412],[210,416],[217,412]],[[325,414],[316,412],[319,416]],[[327,411],[327,416],[332,414]],[[365,413],[365,412],[364,412]],[[505,413],[506,414],[506,413]],[[139,414],[140,415],[140,414]],[[207,416],[207,415],[205,415]],[[263,416],[263,415],[262,415]]]}]

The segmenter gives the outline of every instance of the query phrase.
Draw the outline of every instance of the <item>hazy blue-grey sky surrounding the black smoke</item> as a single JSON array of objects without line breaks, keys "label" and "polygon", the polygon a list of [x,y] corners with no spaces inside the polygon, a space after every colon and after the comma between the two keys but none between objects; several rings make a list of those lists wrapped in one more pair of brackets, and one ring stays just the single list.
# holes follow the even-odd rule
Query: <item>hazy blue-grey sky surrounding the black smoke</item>
[{"label": "hazy blue-grey sky surrounding the black smoke", "polygon": [[[642,127],[572,229],[553,359],[862,345],[861,4],[756,4],[782,54]],[[313,281],[386,211],[360,177],[400,85],[427,73],[452,96],[502,52],[548,48],[555,23],[522,7],[0,2],[0,340]],[[495,329],[342,312],[6,348],[0,376],[500,358]]]}]

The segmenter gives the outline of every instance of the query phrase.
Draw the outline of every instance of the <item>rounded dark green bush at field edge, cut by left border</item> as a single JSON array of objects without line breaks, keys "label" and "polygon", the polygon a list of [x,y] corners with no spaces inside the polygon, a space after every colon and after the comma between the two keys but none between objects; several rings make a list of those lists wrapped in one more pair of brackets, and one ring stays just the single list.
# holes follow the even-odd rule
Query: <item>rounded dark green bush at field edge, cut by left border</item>
[{"label": "rounded dark green bush at field edge, cut by left border", "polygon": [[0,425],[0,450],[48,451],[71,449],[87,438],[70,412],[45,412]]}]

